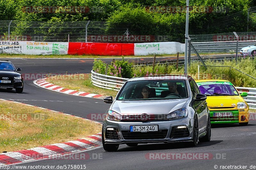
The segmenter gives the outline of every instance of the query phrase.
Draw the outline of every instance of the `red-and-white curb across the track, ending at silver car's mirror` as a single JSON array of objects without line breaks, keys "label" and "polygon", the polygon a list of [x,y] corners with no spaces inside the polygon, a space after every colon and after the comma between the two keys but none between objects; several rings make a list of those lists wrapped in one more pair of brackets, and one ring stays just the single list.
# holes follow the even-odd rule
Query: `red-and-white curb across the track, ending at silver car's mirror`
[{"label": "red-and-white curb across the track, ending at silver car's mirror", "polygon": [[60,87],[60,86],[54,85],[52,83],[49,83],[48,81],[45,81],[45,79],[35,80],[35,81],[33,81],[33,83],[39,87],[44,88],[44,89],[49,89],[52,91],[57,91],[57,92],[69,94],[69,95],[100,98],[100,99],[107,97],[107,96],[97,95],[97,94],[93,94],[93,93],[87,93],[87,92],[83,92],[83,91],[71,90],[71,89],[67,89],[64,87]]}]

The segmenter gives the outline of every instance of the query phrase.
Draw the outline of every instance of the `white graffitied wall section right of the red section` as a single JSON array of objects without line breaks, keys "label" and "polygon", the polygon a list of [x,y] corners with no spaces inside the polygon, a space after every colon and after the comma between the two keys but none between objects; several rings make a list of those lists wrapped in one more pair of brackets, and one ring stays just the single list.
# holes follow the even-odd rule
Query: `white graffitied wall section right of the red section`
[{"label": "white graffitied wall section right of the red section", "polygon": [[134,55],[175,54],[185,52],[185,44],[179,42],[135,43]]}]

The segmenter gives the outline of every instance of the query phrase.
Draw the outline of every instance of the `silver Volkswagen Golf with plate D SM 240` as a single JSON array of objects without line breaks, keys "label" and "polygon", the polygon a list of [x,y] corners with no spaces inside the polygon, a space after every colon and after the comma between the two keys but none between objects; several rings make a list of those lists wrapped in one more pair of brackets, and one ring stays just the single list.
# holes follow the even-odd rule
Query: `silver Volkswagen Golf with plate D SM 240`
[{"label": "silver Volkswagen Golf with plate D SM 240", "polygon": [[105,151],[120,144],[170,143],[211,140],[206,96],[190,76],[163,75],[131,78],[124,83],[106,112],[102,125]]}]

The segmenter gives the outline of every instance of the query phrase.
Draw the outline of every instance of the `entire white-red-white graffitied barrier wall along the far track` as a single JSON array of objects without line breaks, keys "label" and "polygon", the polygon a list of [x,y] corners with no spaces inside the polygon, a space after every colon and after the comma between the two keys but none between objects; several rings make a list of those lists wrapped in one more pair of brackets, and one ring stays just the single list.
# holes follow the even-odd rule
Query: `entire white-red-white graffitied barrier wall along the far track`
[{"label": "entire white-red-white graffitied barrier wall along the far track", "polygon": [[28,55],[149,55],[185,52],[185,44],[179,42],[158,43],[82,43],[82,42],[35,42],[0,41],[0,54]]}]

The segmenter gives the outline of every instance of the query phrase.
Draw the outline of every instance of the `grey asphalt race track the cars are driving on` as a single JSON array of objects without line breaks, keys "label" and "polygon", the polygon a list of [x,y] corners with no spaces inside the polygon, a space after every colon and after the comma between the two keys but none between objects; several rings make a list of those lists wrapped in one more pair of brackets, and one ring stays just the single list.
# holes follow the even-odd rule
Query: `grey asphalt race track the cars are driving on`
[{"label": "grey asphalt race track the cars are driving on", "polygon": [[[3,59],[6,60],[6,59]],[[90,73],[93,59],[9,59],[15,67],[21,67],[21,74],[74,74]],[[131,59],[138,60],[138,59]],[[145,62],[147,59],[139,60]],[[157,60],[166,60],[157,58]],[[175,60],[175,57],[173,58]],[[103,59],[111,62],[112,59]],[[85,117],[90,113],[104,113],[110,104],[102,99],[66,95],[43,89],[34,80],[24,81],[24,91],[0,90],[0,98],[36,105],[51,110]],[[186,143],[139,144],[129,147],[120,145],[117,152],[105,152],[102,147],[79,152],[81,159],[44,159],[18,164],[20,166],[86,165],[86,169],[253,169],[256,166],[255,115],[248,126],[238,124],[215,125],[212,128],[211,142],[199,142],[196,147]],[[90,159],[79,157],[90,155]],[[171,155],[171,156],[170,156]],[[182,156],[181,156],[182,155]],[[193,155],[191,157],[190,155]],[[200,155],[204,155],[203,157]],[[72,158],[72,157],[71,157]],[[247,166],[234,167],[234,166]],[[17,165],[16,165],[17,167]],[[84,167],[84,166],[83,166]],[[22,169],[22,168],[20,168]],[[57,168],[52,168],[57,169]],[[70,168],[71,169],[71,168]],[[224,168],[222,168],[224,169]]]}]

